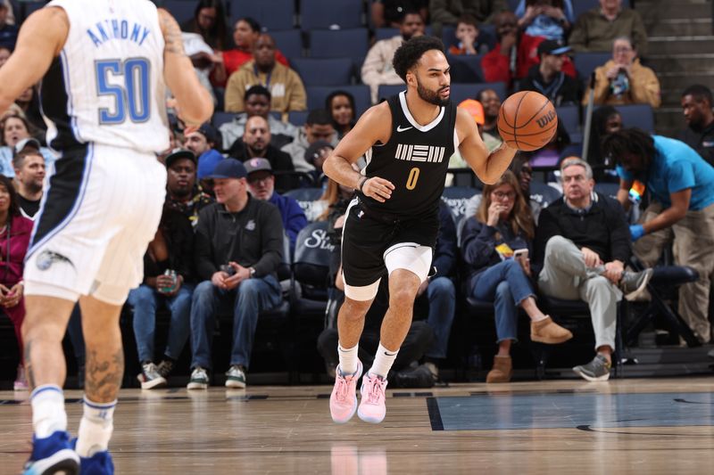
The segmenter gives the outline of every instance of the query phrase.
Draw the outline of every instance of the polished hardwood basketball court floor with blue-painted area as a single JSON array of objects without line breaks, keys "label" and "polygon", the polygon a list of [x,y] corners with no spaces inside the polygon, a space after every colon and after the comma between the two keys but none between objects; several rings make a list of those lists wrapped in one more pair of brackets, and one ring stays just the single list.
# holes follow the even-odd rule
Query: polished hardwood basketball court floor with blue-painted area
[{"label": "polished hardwood basketball court floor with blue-painted area", "polygon": [[[714,473],[712,387],[714,378],[396,389],[385,422],[343,426],[330,420],[327,386],[129,389],[111,448],[129,475]],[[80,396],[67,393],[73,432]],[[29,454],[26,398],[0,392],[0,473],[18,473]]]}]

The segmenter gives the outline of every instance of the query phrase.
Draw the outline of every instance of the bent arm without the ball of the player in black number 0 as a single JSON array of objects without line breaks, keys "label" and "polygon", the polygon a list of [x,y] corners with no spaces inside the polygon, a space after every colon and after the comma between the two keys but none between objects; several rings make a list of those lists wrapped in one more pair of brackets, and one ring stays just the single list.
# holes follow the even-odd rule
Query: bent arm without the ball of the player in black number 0
[{"label": "bent arm without the ball of the player in black number 0", "polygon": [[360,190],[365,196],[379,202],[389,199],[394,184],[378,176],[365,177],[352,168],[352,164],[375,143],[387,143],[392,135],[392,113],[389,104],[382,102],[362,114],[357,124],[337,143],[322,165],[322,171],[339,184]]}]

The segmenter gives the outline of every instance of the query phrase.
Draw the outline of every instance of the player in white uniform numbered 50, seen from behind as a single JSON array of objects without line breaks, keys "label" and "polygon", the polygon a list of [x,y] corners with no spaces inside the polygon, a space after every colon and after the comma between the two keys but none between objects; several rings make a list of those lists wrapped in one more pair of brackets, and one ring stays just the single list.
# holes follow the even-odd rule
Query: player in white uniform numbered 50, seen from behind
[{"label": "player in white uniform numbered 50, seen from behind", "polygon": [[[187,125],[212,114],[178,24],[148,0],[54,0],[22,25],[0,69],[0,112],[42,79],[47,143],[60,158],[29,245],[23,325],[33,450],[28,474],[112,473],[107,452],[124,370],[119,315],[159,224],[169,146],[166,86]],[[62,337],[79,299],[84,415],[70,441]],[[81,467],[80,467],[81,462]]]}]

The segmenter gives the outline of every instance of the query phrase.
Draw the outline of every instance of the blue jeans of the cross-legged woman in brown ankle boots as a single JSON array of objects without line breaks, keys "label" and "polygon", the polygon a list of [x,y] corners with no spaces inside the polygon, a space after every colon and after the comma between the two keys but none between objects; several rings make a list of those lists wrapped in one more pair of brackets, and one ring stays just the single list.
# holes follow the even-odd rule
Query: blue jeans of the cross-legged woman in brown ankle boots
[{"label": "blue jeans of the cross-legged woman in brown ankle boots", "polygon": [[513,259],[488,267],[471,280],[471,294],[476,299],[494,302],[498,342],[517,340],[518,306],[535,296],[523,267]]}]

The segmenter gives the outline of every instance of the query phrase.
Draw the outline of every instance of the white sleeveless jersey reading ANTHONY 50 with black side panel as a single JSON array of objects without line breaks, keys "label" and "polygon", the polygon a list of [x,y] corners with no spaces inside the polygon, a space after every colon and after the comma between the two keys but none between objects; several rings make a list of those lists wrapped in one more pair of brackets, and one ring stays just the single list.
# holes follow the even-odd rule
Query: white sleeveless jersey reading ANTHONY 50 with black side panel
[{"label": "white sleeveless jersey reading ANTHONY 50 with black side panel", "polygon": [[53,0],[70,33],[40,88],[47,143],[169,148],[163,35],[149,0]]}]

